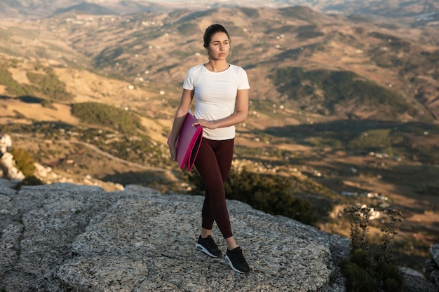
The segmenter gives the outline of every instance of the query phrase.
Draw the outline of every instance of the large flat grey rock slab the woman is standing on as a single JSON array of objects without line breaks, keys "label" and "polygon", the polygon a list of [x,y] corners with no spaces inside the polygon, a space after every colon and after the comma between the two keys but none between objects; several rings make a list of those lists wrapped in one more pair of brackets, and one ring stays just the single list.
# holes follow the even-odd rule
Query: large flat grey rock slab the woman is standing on
[{"label": "large flat grey rock slab the woman is standing on", "polygon": [[336,262],[349,239],[229,201],[252,267],[236,274],[194,248],[202,200],[139,186],[0,188],[0,290],[344,291]]}]

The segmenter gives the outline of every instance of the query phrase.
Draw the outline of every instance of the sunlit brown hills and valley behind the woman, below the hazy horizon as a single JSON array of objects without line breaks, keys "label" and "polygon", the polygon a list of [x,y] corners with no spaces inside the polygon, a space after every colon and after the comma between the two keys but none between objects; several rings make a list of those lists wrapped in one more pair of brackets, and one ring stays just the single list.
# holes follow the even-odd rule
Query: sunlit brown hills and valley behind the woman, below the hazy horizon
[{"label": "sunlit brown hills and valley behind the woman, below the hazy horizon", "polygon": [[203,30],[222,22],[229,62],[252,87],[234,167],[304,178],[302,195],[318,202],[316,185],[337,193],[318,226],[330,232],[349,232],[348,202],[403,209],[400,249],[412,246],[421,268],[439,233],[437,26],[306,7],[89,15],[81,5],[0,20],[0,132],[14,146],[78,183],[190,190],[166,138],[185,72],[206,60]]}]

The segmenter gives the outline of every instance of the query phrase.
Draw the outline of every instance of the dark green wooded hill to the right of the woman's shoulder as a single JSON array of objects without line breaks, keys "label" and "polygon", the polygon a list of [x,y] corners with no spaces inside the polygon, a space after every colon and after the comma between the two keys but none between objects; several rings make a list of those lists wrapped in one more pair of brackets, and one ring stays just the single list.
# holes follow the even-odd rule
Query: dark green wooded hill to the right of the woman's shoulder
[{"label": "dark green wooded hill to the right of the woman's shoulder", "polygon": [[349,71],[286,68],[272,78],[278,91],[304,111],[360,120],[398,120],[400,115],[419,114],[397,92]]}]

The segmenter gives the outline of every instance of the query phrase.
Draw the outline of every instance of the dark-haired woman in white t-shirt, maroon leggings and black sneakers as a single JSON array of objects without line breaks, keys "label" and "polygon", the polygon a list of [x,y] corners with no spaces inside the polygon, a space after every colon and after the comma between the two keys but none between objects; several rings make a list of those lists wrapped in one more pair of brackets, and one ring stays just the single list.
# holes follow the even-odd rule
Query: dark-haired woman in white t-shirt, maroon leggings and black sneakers
[{"label": "dark-haired woman in white t-shirt, maroon leggings and black sneakers", "polygon": [[250,267],[231,231],[224,182],[229,175],[234,153],[235,125],[245,121],[248,116],[250,85],[244,69],[226,61],[230,37],[222,25],[208,27],[203,41],[209,60],[187,71],[170,134],[169,150],[171,158],[175,160],[175,142],[195,96],[194,116],[197,119],[194,125],[203,127],[203,140],[195,167],[206,188],[201,212],[202,229],[196,249],[214,258],[222,256],[211,236],[215,221],[227,242],[225,260],[234,271],[245,273],[250,271]]}]

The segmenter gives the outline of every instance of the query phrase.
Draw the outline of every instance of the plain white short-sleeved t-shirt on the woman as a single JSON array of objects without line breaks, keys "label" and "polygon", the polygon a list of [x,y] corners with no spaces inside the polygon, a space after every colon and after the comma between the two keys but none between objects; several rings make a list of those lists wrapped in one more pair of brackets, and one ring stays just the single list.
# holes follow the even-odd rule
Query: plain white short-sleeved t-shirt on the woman
[{"label": "plain white short-sleeved t-shirt on the woman", "polygon": [[[196,118],[220,120],[234,113],[237,90],[250,89],[250,85],[247,73],[241,67],[230,64],[225,71],[212,72],[201,64],[187,71],[183,88],[195,92]],[[203,137],[211,140],[235,137],[235,126],[203,130]]]}]

